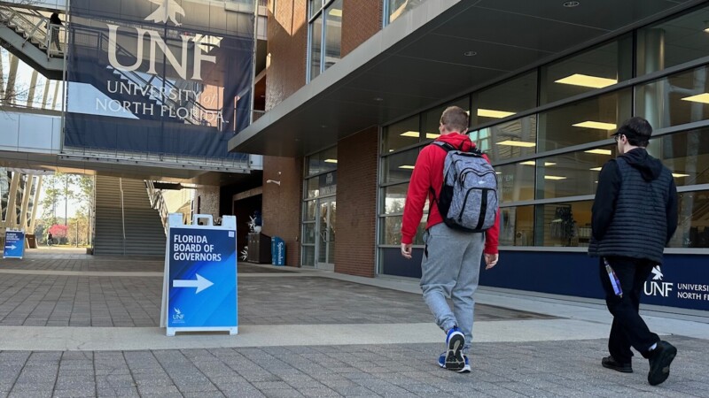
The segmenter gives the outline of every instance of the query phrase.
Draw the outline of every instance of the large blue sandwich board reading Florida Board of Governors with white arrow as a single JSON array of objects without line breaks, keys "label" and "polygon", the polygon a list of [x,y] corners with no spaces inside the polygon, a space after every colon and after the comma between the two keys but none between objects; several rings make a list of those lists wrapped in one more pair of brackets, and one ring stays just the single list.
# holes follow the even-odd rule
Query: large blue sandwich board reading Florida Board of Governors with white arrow
[{"label": "large blue sandwich board reading Florida Board of Governors with white arrow", "polygon": [[[204,225],[198,225],[198,221]],[[237,218],[197,214],[168,216],[160,325],[176,332],[238,333]]]}]

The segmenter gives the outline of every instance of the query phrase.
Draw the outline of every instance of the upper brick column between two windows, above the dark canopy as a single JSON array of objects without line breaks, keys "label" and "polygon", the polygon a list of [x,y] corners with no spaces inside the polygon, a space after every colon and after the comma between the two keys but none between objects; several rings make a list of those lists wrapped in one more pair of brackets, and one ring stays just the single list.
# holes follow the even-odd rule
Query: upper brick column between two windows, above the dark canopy
[{"label": "upper brick column between two windows, above the dark canopy", "polygon": [[342,47],[345,57],[382,28],[384,2],[347,0],[342,5]]}]

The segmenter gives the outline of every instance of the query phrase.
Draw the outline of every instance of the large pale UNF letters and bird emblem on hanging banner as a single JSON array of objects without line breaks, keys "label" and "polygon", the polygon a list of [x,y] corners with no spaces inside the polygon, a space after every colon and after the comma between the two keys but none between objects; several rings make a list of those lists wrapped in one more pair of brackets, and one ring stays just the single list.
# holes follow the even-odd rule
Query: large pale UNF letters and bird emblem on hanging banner
[{"label": "large pale UNF letters and bird emblem on hanging banner", "polygon": [[[175,3],[175,0],[148,0],[153,4],[160,4],[160,7],[156,11],[153,11],[150,15],[145,17],[145,20],[151,20],[153,22],[168,22],[170,20],[176,27],[181,24],[177,22],[177,14],[184,15],[183,8]],[[157,55],[157,49],[160,48],[168,63],[175,68],[177,74],[180,75],[183,80],[188,79],[187,66],[191,63],[187,60],[187,55],[189,53],[190,47],[193,48],[192,53],[192,65],[193,70],[189,79],[192,80],[202,80],[202,61],[216,63],[216,57],[209,56],[202,53],[202,41],[205,38],[203,35],[189,36],[187,34],[180,34],[182,38],[182,54],[178,60],[175,54],[169,49],[168,44],[160,36],[160,31],[152,29],[143,29],[136,27],[136,63],[133,65],[121,65],[118,61],[116,55],[116,42],[118,39],[118,25],[106,24],[108,26],[108,62],[116,69],[126,72],[136,71],[141,65],[143,65],[143,52],[144,52],[144,37],[150,40],[150,50],[148,53],[149,69],[147,73],[158,74],[155,70],[155,59]],[[128,29],[128,28],[126,28]],[[133,34],[131,34],[132,36]],[[194,45],[190,46],[190,42]],[[219,47],[219,42],[210,42],[211,46]]]}]

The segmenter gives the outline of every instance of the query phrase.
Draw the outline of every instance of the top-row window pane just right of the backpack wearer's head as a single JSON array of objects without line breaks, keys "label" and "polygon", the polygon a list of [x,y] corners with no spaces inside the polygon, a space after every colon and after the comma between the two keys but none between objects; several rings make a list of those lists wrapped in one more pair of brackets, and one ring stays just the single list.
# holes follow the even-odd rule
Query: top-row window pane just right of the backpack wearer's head
[{"label": "top-row window pane just right of the backpack wearer's head", "polygon": [[471,126],[507,118],[537,105],[537,73],[497,84],[472,96]]}]

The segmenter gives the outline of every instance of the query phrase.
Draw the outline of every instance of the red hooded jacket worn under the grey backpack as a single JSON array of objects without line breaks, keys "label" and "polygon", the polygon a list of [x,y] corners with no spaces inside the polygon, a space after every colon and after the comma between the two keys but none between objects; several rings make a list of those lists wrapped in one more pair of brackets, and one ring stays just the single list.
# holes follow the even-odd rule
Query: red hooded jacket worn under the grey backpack
[{"label": "red hooded jacket worn under the grey backpack", "polygon": [[[448,142],[456,148],[469,151],[475,148],[470,137],[464,134],[449,133],[440,135],[436,141]],[[442,223],[443,218],[438,211],[438,205],[433,202],[430,188],[436,192],[436,197],[440,195],[440,187],[443,185],[443,165],[446,159],[446,150],[438,145],[426,145],[418,154],[414,172],[411,173],[409,191],[406,194],[406,205],[404,206],[404,217],[401,223],[401,243],[409,244],[413,242],[416,230],[424,215],[424,204],[428,197],[428,222],[426,229]],[[489,162],[490,160],[485,157]],[[495,225],[485,232],[486,254],[497,253],[497,242],[500,236],[500,210],[497,210]]]}]

